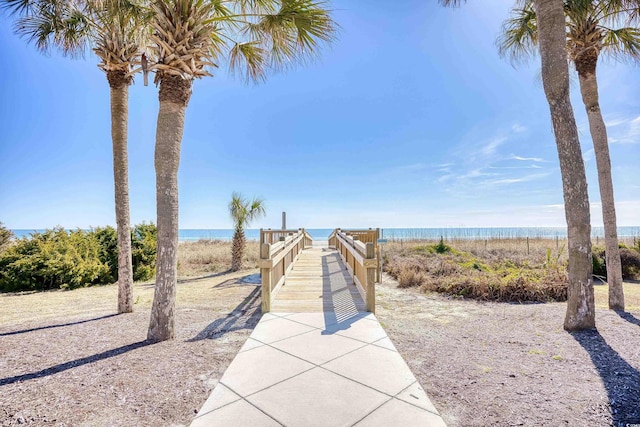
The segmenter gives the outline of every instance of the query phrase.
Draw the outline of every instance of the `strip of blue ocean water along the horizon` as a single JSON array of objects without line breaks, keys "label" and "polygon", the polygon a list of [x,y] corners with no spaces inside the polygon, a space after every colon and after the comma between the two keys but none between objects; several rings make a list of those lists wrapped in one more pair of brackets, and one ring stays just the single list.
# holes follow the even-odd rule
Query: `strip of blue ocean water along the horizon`
[{"label": "strip of blue ocean water along the horizon", "polygon": [[[12,230],[16,237],[27,237],[31,233],[44,230]],[[332,228],[308,228],[307,232],[316,240],[326,240]],[[567,237],[567,229],[564,227],[486,227],[486,228],[383,228],[382,237],[392,240],[415,239],[516,239],[516,238],[545,238],[555,239]],[[260,238],[259,229],[247,229],[245,235],[249,240]],[[603,227],[592,227],[592,237],[604,237]],[[181,242],[194,242],[204,240],[231,240],[232,229],[181,229],[179,239]],[[618,227],[618,237],[640,237],[640,226]]]}]

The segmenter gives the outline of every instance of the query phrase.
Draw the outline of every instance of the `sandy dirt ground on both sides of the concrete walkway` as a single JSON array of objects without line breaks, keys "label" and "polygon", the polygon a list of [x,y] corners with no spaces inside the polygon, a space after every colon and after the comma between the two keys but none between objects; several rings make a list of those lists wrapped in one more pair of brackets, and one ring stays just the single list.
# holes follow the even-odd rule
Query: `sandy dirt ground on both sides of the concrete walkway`
[{"label": "sandy dirt ground on both sides of the concrete walkway", "polygon": [[[255,271],[181,281],[177,338],[145,341],[153,287],[0,295],[0,425],[188,425],[261,316]],[[638,285],[640,286],[640,285]],[[377,290],[377,316],[449,426],[640,423],[640,312],[562,329],[565,304]]]}]

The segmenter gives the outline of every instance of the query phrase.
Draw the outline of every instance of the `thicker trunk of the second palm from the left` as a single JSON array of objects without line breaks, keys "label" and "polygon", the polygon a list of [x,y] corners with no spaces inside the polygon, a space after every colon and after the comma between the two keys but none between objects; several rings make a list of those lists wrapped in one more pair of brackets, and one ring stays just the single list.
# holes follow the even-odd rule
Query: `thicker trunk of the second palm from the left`
[{"label": "thicker trunk of the second palm from the left", "polygon": [[190,96],[190,80],[171,75],[161,77],[155,151],[158,258],[151,321],[147,332],[147,339],[151,341],[164,341],[175,337],[178,166],[184,115]]}]

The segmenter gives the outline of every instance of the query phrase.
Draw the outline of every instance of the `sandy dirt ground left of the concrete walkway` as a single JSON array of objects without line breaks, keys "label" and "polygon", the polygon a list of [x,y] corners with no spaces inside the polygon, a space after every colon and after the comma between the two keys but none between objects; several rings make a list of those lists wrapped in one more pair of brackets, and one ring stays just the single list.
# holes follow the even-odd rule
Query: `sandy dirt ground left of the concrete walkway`
[{"label": "sandy dirt ground left of the concrete walkway", "polygon": [[[0,295],[0,425],[188,425],[262,315],[247,274],[182,282],[176,339],[158,344],[151,285],[119,316],[115,286]],[[7,324],[16,307],[32,320]]]}]

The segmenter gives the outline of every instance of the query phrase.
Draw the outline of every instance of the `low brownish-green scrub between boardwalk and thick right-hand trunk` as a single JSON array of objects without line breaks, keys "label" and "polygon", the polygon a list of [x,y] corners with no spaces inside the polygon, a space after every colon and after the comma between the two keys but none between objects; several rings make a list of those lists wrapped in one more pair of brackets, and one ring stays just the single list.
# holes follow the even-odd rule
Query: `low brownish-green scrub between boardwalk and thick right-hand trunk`
[{"label": "low brownish-green scrub between boardwalk and thick right-hand trunk", "polygon": [[[551,242],[549,242],[551,243]],[[395,247],[394,247],[395,246]],[[390,245],[385,271],[400,287],[485,301],[566,301],[566,261],[562,250],[547,248],[546,257],[508,256],[485,251],[473,254],[445,245]]]}]

